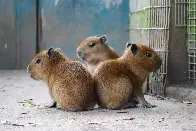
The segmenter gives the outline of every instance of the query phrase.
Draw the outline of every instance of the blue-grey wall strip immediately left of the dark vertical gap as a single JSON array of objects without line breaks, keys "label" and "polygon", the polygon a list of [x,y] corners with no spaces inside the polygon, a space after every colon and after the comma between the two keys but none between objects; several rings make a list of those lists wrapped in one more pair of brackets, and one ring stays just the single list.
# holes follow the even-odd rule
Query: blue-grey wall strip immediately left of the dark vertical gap
[{"label": "blue-grey wall strip immediately left of the dark vertical gap", "polygon": [[22,0],[17,4],[17,68],[26,69],[36,54],[36,0]]}]

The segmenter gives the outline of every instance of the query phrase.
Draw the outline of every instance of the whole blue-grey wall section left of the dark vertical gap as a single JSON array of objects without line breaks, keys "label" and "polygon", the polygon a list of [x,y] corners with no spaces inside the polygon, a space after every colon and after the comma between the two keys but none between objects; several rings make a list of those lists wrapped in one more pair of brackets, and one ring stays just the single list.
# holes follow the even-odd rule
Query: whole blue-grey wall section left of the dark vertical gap
[{"label": "whole blue-grey wall section left of the dark vertical gap", "polygon": [[24,69],[35,55],[35,1],[0,0],[0,69]]}]

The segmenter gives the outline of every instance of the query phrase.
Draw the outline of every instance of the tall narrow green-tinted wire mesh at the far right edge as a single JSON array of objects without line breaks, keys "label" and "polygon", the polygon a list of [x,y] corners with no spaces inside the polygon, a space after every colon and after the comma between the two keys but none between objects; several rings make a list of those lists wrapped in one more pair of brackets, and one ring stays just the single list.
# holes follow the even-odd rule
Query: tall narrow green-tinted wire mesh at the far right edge
[{"label": "tall narrow green-tinted wire mesh at the far right edge", "polygon": [[189,79],[196,80],[196,0],[188,1],[188,65]]}]

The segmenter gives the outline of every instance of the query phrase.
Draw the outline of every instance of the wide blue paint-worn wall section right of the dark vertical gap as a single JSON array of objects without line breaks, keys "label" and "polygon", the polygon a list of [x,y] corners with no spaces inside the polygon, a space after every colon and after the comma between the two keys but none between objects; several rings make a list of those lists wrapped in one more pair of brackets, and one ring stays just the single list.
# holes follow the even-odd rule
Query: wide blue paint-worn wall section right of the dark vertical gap
[{"label": "wide blue paint-worn wall section right of the dark vertical gap", "polygon": [[106,34],[119,53],[129,40],[129,0],[42,0],[40,16],[39,49],[59,47],[73,60],[88,36]]}]

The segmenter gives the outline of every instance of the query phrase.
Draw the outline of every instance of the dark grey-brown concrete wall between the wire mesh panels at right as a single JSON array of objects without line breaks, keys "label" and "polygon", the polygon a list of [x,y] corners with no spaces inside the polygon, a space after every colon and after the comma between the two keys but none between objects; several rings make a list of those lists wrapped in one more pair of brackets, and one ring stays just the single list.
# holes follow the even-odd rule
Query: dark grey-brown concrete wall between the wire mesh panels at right
[{"label": "dark grey-brown concrete wall between the wire mesh panels at right", "polygon": [[168,84],[179,84],[188,80],[187,29],[175,27],[174,2],[175,0],[171,0]]}]

